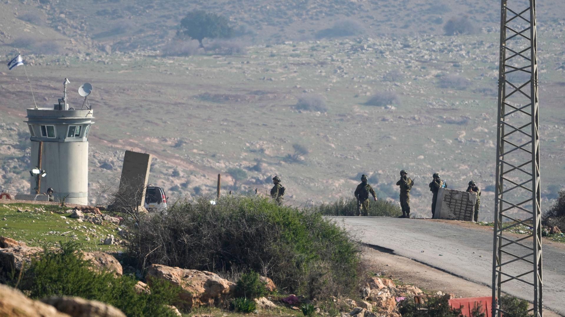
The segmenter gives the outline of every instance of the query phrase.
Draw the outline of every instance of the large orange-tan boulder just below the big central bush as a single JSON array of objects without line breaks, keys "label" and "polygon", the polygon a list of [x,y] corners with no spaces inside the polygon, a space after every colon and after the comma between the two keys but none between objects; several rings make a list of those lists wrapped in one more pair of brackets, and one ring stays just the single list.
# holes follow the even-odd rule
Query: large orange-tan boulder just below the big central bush
[{"label": "large orange-tan boulder just below the big central bush", "polygon": [[150,282],[150,286],[151,278],[167,280],[173,285],[179,285],[182,292],[175,306],[187,310],[199,305],[222,303],[233,296],[236,288],[234,283],[212,272],[157,264],[151,265],[147,270],[146,279]]}]

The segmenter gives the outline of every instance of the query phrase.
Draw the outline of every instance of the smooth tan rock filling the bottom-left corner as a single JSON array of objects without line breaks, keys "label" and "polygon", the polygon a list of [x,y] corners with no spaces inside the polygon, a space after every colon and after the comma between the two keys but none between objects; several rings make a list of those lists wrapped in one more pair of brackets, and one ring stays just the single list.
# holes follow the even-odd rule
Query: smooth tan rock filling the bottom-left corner
[{"label": "smooth tan rock filling the bottom-left corner", "polygon": [[0,316],[10,317],[70,317],[55,307],[33,301],[19,290],[0,284]]}]

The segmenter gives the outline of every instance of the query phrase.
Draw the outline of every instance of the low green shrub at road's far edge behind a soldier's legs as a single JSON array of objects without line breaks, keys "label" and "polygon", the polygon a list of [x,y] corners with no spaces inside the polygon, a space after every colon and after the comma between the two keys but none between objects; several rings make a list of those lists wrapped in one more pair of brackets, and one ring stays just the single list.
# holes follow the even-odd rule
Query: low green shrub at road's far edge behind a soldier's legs
[{"label": "low green shrub at road's far edge behind a soldier's legs", "polygon": [[[357,199],[343,199],[321,204],[312,208],[315,212],[323,215],[351,216],[357,215]],[[370,216],[398,217],[402,214],[401,208],[393,202],[379,199],[371,201],[369,204]]]}]

